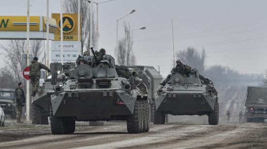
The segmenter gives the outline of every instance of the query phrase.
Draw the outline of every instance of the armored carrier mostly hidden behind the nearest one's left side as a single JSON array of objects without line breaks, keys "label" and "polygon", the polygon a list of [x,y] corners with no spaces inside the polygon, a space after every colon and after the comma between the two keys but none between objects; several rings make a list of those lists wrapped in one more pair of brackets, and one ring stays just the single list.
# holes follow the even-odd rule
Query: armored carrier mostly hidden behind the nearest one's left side
[{"label": "armored carrier mostly hidden behind the nearest one's left side", "polygon": [[32,117],[32,124],[39,124],[39,125],[48,125],[48,117],[50,115],[50,106],[51,106],[51,95],[54,93],[54,88],[56,86],[62,86],[62,78],[65,80],[67,76],[65,76],[66,71],[70,68],[75,67],[75,63],[66,62],[62,65],[59,62],[50,63],[50,70],[51,73],[60,74],[61,77],[57,79],[57,82],[51,84],[51,77],[52,75],[48,76],[45,79],[43,85],[38,88],[38,92],[35,97],[32,98],[33,103],[31,106],[31,117]]}]

